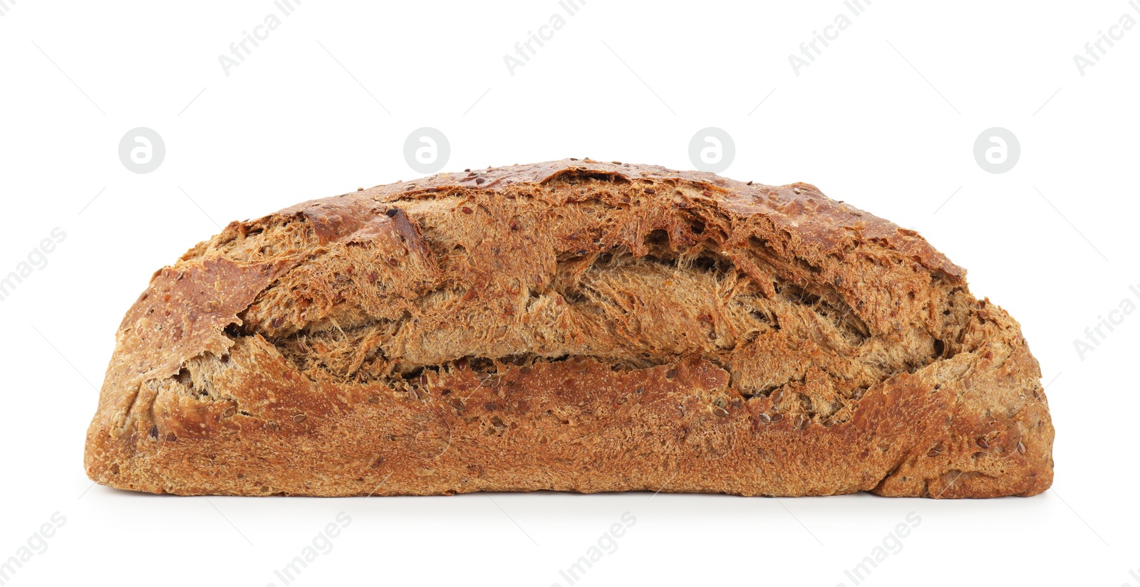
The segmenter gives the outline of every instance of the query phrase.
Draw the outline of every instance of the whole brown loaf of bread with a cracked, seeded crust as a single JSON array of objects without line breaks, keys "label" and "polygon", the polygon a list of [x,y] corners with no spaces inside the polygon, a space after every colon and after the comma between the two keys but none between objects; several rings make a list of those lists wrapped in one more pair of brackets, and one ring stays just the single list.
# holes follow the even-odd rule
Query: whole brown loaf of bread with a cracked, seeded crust
[{"label": "whole brown loaf of bread with a cracked, seeded crust", "polygon": [[1040,369],[964,274],[812,185],[659,166],[312,200],[154,274],[87,473],[179,495],[1035,495]]}]

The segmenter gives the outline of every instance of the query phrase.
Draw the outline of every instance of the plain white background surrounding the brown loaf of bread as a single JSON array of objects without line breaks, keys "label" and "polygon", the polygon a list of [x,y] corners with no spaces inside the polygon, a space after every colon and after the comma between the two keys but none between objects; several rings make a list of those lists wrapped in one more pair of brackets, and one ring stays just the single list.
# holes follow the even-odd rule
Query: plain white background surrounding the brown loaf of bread
[{"label": "plain white background surrounding the brown loaf of bread", "polygon": [[[8,585],[282,586],[274,570],[343,511],[351,523],[294,585],[567,586],[559,571],[630,512],[579,585],[852,586],[844,571],[914,512],[921,523],[864,585],[1140,586],[1140,312],[1083,358],[1074,348],[1122,299],[1140,305],[1140,26],[1085,75],[1073,60],[1140,13],[874,0],[796,75],[788,56],[841,2],[588,1],[513,76],[503,56],[556,1],[304,0],[228,76],[218,56],[277,11],[270,1],[2,5],[0,274],[66,232],[0,303],[0,561],[66,518]],[[137,126],[166,144],[145,175],[117,156]],[[1053,488],[931,501],[91,487],[84,431],[150,274],[230,220],[416,177],[402,144],[421,126],[450,139],[446,171],[585,156],[689,170],[690,138],[718,126],[736,143],[723,175],[806,181],[919,230],[1023,324],[1049,383]],[[1020,140],[1004,174],[974,159],[992,126]]]}]

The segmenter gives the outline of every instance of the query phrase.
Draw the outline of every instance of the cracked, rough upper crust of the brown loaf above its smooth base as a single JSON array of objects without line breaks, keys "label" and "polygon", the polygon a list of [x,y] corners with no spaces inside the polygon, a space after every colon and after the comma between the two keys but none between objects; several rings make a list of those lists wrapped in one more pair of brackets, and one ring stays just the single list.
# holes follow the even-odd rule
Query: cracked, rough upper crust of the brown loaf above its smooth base
[{"label": "cracked, rough upper crust of the brown loaf above its smooth base", "polygon": [[979,304],[914,231],[806,183],[572,158],[443,173],[233,222],[156,272],[100,414],[155,380],[225,394],[201,364],[252,337],[347,386],[469,359],[702,358],[744,397],[844,421],[887,378],[1019,339],[1000,309],[971,320]]}]

